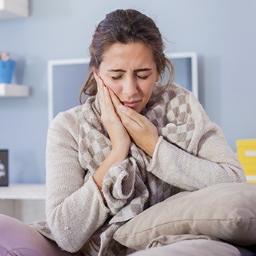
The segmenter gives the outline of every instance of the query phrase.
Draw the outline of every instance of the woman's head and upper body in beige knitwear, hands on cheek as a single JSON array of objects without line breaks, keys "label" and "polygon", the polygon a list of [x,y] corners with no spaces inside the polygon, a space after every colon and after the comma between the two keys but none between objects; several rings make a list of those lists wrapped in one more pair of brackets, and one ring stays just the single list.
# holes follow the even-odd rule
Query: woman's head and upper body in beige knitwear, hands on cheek
[{"label": "woman's head and upper body in beige knitwear, hands on cheek", "polygon": [[172,84],[163,50],[139,11],[113,11],[97,26],[82,90],[90,97],[48,131],[47,221],[33,228],[52,254],[130,254],[112,235],[144,209],[184,190],[245,182],[220,128]]}]

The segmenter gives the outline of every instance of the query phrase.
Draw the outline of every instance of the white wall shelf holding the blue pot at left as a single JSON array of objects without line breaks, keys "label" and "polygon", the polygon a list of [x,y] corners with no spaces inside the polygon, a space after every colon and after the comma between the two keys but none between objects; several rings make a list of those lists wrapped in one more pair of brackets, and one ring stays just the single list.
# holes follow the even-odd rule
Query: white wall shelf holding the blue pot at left
[{"label": "white wall shelf holding the blue pot at left", "polygon": [[20,84],[0,84],[0,97],[28,97],[29,87]]}]

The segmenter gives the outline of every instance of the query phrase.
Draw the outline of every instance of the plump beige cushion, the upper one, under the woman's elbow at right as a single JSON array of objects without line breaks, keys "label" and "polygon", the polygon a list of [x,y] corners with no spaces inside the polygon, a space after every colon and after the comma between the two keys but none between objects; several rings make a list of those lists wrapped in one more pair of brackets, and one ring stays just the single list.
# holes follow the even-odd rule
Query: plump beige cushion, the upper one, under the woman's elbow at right
[{"label": "plump beige cushion, the upper one, under the woman's elbow at right", "polygon": [[222,183],[173,195],[126,222],[113,238],[141,250],[159,236],[185,234],[256,244],[256,184]]}]

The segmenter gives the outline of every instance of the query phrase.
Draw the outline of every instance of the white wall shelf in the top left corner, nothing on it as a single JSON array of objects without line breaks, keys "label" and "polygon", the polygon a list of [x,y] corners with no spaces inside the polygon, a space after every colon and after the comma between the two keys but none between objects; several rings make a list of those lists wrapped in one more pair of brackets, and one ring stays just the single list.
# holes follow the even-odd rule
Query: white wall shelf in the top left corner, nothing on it
[{"label": "white wall shelf in the top left corner, nothing on it", "polygon": [[28,17],[28,0],[0,0],[0,19]]}]

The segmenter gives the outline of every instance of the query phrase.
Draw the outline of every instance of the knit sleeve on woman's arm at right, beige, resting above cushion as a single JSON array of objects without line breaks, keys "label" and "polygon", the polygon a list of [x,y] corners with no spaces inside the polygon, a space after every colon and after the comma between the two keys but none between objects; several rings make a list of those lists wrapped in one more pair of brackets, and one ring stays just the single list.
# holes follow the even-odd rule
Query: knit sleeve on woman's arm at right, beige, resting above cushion
[{"label": "knit sleeve on woman's arm at right, beige, resting above cushion", "polygon": [[160,136],[148,171],[164,182],[190,191],[216,183],[245,182],[245,173],[220,127],[208,119],[192,94],[189,101],[195,131],[188,149]]}]

